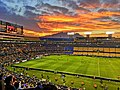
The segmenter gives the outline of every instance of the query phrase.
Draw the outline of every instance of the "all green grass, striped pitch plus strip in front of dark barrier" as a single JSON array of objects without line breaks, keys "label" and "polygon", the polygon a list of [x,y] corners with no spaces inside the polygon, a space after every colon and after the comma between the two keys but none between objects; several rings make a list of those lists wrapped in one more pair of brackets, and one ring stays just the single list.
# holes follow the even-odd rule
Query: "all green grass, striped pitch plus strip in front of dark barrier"
[{"label": "all green grass, striped pitch plus strip in front of dark barrier", "polygon": [[[117,76],[120,75],[120,58],[51,55],[15,64],[14,66],[40,68],[45,70],[63,71],[69,73],[78,73],[114,79],[117,79]],[[16,68],[16,70],[14,70],[12,67],[8,67],[8,69],[17,73],[22,73],[21,68]],[[47,79],[47,76],[49,76],[50,82],[59,85],[64,85],[63,80],[61,78],[61,74],[59,73],[54,74],[38,70],[27,70],[26,73],[28,73],[30,77],[32,77],[34,74],[40,79],[42,79],[41,74],[43,74],[44,79]],[[57,82],[55,81],[55,78],[58,78]],[[76,76],[66,75],[65,80],[65,85],[69,87],[85,87],[86,90],[96,90],[93,87],[93,85],[96,83],[98,86],[97,90],[104,90],[103,88],[101,88],[100,80],[98,79],[94,80],[86,77],[78,78]],[[73,85],[71,85],[71,81],[74,81]],[[81,86],[81,82],[83,81],[85,82],[85,85]],[[120,87],[120,82],[103,80],[103,85],[107,85],[108,90],[118,90],[117,88]]]}]

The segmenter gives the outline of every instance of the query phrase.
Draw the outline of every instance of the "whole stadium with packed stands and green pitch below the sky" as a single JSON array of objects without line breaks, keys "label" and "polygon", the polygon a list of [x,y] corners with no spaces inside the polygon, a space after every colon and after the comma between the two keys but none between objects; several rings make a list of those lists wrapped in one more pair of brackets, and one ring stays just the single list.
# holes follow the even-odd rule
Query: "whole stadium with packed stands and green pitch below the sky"
[{"label": "whole stadium with packed stands and green pitch below the sky", "polygon": [[[11,27],[4,28],[4,31]],[[18,30],[23,32],[23,27]],[[74,34],[67,33],[68,38],[47,36],[25,40],[22,33],[16,32],[17,29],[1,31],[0,60],[1,74],[3,77],[14,75],[16,81],[21,82],[19,89],[34,90],[39,83],[46,88],[51,86],[50,90],[118,90],[119,38],[111,34],[108,37],[87,34],[86,37],[73,38]]]}]

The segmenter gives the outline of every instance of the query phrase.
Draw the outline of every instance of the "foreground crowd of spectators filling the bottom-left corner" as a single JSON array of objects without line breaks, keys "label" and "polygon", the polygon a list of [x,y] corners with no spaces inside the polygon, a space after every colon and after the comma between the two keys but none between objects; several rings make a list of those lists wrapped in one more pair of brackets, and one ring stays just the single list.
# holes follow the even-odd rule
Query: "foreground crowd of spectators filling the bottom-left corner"
[{"label": "foreground crowd of spectators filling the bottom-left corner", "polygon": [[57,90],[52,83],[42,81],[34,75],[29,77],[22,73],[11,72],[5,68],[0,71],[3,72],[0,75],[0,90]]}]

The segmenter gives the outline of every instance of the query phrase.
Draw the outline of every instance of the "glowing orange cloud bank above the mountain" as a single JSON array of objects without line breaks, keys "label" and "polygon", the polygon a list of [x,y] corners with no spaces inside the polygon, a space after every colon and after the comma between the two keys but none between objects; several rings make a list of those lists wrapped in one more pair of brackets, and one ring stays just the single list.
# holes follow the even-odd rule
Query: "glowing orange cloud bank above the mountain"
[{"label": "glowing orange cloud bank above the mountain", "polygon": [[[120,16],[120,12],[88,12],[80,15],[43,15],[39,16],[38,22],[40,28],[45,29],[43,32],[26,31],[26,34],[38,36],[52,35],[58,32],[85,32],[98,31],[103,33],[106,30],[114,29],[120,32],[120,23],[112,21],[110,18],[114,15]],[[106,17],[108,19],[106,19]],[[105,21],[104,21],[105,18]],[[118,31],[119,30],[119,31]]]}]

